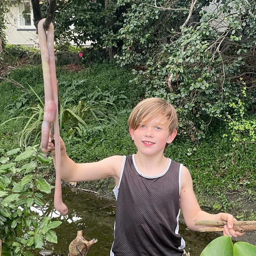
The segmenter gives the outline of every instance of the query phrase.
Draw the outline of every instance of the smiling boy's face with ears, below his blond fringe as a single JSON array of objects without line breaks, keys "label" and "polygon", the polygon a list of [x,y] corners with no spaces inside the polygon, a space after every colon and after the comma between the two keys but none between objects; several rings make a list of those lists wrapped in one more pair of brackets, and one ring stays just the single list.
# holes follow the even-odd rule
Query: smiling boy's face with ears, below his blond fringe
[{"label": "smiling boy's face with ears, below his blond fringe", "polygon": [[171,143],[177,134],[176,130],[169,134],[166,122],[166,118],[159,116],[147,123],[142,122],[136,130],[129,128],[138,151],[145,155],[163,153],[166,143]]}]

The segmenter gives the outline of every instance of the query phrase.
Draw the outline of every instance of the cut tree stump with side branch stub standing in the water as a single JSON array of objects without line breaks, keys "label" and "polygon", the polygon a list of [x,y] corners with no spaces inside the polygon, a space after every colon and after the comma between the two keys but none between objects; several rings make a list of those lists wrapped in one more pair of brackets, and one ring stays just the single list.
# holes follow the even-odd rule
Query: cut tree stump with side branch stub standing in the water
[{"label": "cut tree stump with side branch stub standing in the water", "polygon": [[83,237],[83,231],[77,231],[76,238],[70,243],[69,256],[85,256],[91,247],[91,245],[95,244],[98,239],[92,239],[91,241],[87,241]]}]

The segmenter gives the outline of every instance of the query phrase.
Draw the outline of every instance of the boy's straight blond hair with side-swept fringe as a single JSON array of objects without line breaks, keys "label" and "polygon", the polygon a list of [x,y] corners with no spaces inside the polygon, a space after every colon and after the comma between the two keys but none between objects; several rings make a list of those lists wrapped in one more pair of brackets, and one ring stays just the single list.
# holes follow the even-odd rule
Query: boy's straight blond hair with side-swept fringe
[{"label": "boy's straight blond hair with side-swept fringe", "polygon": [[159,116],[167,119],[165,125],[169,127],[170,134],[177,130],[178,118],[175,108],[160,98],[147,98],[139,102],[130,114],[128,125],[136,130],[142,122],[147,123]]}]

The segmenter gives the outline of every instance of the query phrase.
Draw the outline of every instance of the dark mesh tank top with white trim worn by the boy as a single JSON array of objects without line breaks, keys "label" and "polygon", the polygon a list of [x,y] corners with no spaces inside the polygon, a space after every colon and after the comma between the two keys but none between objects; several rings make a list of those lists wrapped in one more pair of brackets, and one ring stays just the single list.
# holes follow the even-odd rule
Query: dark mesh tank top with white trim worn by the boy
[{"label": "dark mesh tank top with white trim worn by the boy", "polygon": [[179,235],[182,165],[169,159],[166,170],[145,176],[134,155],[124,157],[116,196],[114,243],[110,256],[182,256]]}]

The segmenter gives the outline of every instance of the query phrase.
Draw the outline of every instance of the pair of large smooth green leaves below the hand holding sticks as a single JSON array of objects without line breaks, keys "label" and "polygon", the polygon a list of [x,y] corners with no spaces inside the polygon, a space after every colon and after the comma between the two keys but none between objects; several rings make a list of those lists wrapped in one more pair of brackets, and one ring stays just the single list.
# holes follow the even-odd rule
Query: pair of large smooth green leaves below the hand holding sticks
[{"label": "pair of large smooth green leaves below the hand holding sticks", "polygon": [[256,246],[237,242],[234,244],[229,236],[221,236],[211,241],[200,256],[248,256],[256,255]]}]

